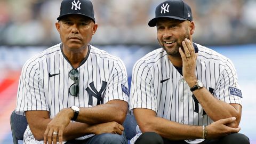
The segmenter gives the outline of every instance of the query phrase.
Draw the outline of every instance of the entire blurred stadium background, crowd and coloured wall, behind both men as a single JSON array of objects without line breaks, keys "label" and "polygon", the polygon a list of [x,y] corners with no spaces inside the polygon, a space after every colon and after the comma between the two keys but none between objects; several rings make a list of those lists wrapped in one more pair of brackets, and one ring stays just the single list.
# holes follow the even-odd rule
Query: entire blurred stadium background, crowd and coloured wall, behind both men
[{"label": "entire blurred stadium background, crowd and coloured wall, behind both men", "polygon": [[[193,40],[230,58],[243,91],[241,132],[256,144],[256,1],[185,0],[193,11]],[[147,26],[159,0],[92,0],[99,28],[92,44],[121,57],[128,75],[147,52],[159,47]],[[55,21],[61,0],[0,0],[0,143],[12,143],[9,118],[16,105],[25,61],[60,42]]]}]

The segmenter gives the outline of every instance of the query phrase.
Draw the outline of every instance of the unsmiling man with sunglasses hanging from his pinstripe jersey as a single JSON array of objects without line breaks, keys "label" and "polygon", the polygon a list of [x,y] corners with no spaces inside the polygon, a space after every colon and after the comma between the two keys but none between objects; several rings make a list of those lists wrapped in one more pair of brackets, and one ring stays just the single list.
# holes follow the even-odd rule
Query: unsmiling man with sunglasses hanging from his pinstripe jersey
[{"label": "unsmiling man with sunglasses hanging from his pinstripe jersey", "polygon": [[98,24],[92,2],[63,0],[55,23],[61,43],[28,60],[16,113],[24,143],[125,144],[129,89],[123,61],[90,44]]}]

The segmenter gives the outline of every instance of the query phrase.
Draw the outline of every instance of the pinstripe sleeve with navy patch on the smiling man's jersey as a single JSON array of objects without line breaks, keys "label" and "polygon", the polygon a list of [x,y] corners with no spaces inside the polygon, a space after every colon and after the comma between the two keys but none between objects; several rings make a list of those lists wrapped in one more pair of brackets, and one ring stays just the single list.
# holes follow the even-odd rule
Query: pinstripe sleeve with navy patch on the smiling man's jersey
[{"label": "pinstripe sleeve with navy patch on the smiling man's jersey", "polygon": [[227,103],[242,105],[242,91],[238,85],[235,67],[230,60],[227,60],[220,80],[215,87],[215,97]]}]

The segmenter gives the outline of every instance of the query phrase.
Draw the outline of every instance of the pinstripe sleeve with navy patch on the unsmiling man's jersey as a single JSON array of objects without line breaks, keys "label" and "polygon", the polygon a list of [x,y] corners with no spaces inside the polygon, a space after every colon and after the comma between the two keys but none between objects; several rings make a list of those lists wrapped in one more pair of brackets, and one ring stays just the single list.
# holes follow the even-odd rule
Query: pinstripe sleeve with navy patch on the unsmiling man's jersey
[{"label": "pinstripe sleeve with navy patch on the unsmiling man's jersey", "polygon": [[110,100],[123,100],[129,102],[129,88],[126,68],[122,60],[118,59],[113,66],[105,91],[104,103]]}]

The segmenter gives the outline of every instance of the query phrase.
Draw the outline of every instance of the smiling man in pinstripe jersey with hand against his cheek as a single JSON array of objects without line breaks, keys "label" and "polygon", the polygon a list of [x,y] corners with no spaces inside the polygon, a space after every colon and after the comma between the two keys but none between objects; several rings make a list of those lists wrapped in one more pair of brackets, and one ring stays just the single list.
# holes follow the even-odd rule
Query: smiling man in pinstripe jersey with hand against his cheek
[{"label": "smiling man in pinstripe jersey with hand against his cheek", "polygon": [[192,42],[190,6],[162,2],[148,25],[161,48],[133,67],[130,109],[138,126],[131,144],[250,143],[238,133],[243,97],[234,65]]}]

